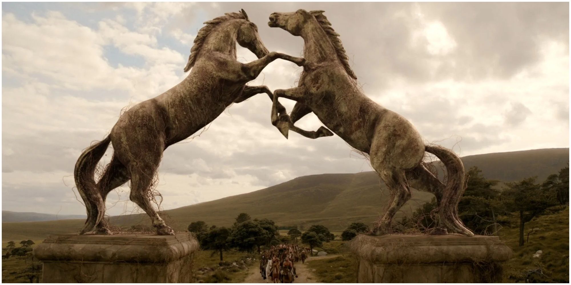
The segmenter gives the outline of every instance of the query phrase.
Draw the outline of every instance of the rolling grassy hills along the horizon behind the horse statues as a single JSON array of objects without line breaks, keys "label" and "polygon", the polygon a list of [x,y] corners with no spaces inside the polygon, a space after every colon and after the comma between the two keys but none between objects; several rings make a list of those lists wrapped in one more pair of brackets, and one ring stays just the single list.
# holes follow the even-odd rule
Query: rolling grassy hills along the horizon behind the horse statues
[{"label": "rolling grassy hills along the horizon behind the horse statues", "polygon": [[[504,182],[529,176],[545,179],[557,173],[569,161],[569,149],[537,149],[520,152],[490,153],[462,158],[466,168],[478,166],[486,178]],[[380,185],[380,189],[379,189]],[[298,177],[255,192],[166,210],[162,217],[175,230],[186,230],[193,221],[208,225],[230,226],[239,213],[252,218],[269,218],[280,226],[309,227],[321,224],[342,231],[351,222],[371,224],[381,213],[389,197],[387,188],[374,172],[355,174],[319,174]],[[403,217],[432,199],[432,194],[412,190],[412,198],[397,213]],[[43,239],[49,234],[73,233],[84,220],[2,223],[2,241]],[[147,215],[111,217],[112,225],[150,225]]]}]

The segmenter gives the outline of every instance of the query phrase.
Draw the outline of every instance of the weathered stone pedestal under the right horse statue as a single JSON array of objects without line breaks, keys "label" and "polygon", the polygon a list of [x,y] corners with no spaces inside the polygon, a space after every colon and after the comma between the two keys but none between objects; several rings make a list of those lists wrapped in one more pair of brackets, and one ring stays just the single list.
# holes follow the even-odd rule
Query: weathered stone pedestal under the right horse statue
[{"label": "weathered stone pedestal under the right horse statue", "polygon": [[501,263],[513,254],[482,235],[358,235],[350,247],[359,283],[501,282]]}]

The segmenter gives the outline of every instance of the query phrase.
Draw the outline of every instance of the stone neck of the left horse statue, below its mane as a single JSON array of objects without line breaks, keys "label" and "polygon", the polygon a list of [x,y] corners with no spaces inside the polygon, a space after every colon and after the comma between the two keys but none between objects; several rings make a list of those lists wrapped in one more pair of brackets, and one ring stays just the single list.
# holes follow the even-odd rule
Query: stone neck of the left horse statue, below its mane
[{"label": "stone neck of the left horse statue, below its mane", "polygon": [[200,55],[208,54],[209,52],[220,52],[228,54],[236,58],[236,37],[238,36],[238,28],[242,25],[240,19],[227,21],[215,27],[208,35],[202,48],[200,48]]}]

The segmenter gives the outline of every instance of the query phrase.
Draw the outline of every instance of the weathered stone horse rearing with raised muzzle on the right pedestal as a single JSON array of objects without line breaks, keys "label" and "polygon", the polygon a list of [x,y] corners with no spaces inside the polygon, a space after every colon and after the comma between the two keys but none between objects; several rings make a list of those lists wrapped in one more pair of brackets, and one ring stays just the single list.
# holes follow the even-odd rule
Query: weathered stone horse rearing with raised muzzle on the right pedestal
[{"label": "weathered stone horse rearing with raised muzzle on the right pedestal", "polygon": [[[324,11],[273,13],[270,27],[279,27],[304,40],[307,65],[296,88],[274,91],[272,124],[287,137],[289,125],[310,112],[353,148],[368,154],[373,169],[390,190],[391,198],[383,217],[372,229],[376,235],[391,233],[397,210],[411,198],[409,184],[435,194],[440,223],[434,234],[474,235],[458,217],[457,205],[465,189],[464,165],[451,150],[425,145],[407,119],[369,99],[356,85],[339,34]],[[289,117],[278,110],[278,98],[297,101]],[[446,166],[448,181],[443,184],[423,162],[425,152],[435,154]]]}]

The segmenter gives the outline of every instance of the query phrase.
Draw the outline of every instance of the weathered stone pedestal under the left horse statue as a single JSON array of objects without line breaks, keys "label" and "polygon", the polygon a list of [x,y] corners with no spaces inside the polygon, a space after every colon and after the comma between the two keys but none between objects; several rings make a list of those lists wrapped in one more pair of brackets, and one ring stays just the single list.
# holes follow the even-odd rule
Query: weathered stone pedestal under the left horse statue
[{"label": "weathered stone pedestal under the left horse statue", "polygon": [[189,283],[198,242],[176,235],[51,235],[34,249],[43,283]]}]

